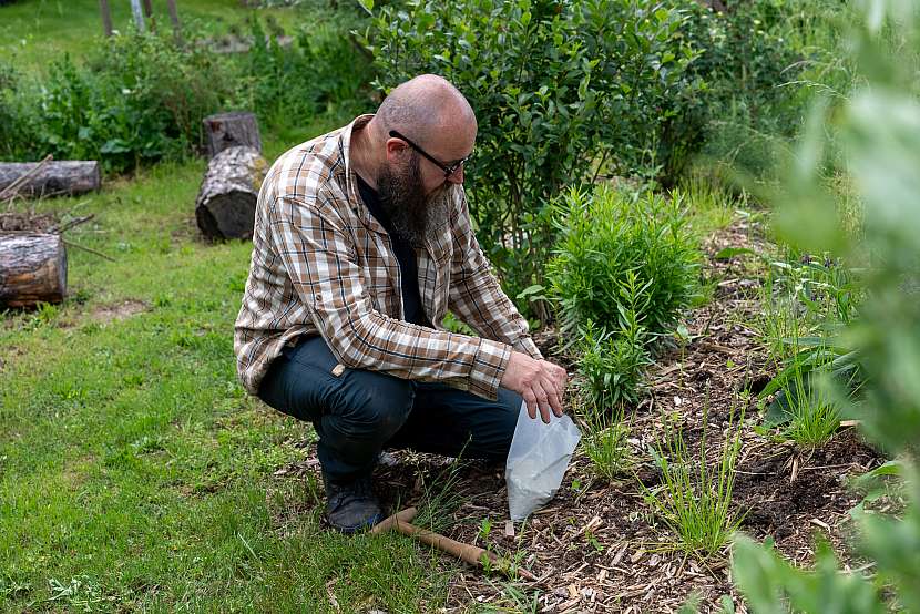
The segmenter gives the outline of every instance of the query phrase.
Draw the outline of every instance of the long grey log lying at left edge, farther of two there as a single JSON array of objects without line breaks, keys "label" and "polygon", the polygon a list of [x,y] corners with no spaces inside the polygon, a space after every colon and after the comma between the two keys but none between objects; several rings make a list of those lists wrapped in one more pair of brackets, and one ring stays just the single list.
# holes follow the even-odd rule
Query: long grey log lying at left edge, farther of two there
[{"label": "long grey log lying at left edge, farther of two there", "polygon": [[[0,192],[25,175],[40,162],[0,162]],[[58,196],[99,190],[99,162],[95,160],[48,161],[44,168],[17,191],[28,196]]]}]

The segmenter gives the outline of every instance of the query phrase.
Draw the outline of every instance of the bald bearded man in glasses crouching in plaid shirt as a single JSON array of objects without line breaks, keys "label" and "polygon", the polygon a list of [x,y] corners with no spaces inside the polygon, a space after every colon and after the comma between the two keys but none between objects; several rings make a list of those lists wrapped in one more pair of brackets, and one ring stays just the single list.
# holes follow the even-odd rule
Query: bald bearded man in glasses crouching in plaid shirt
[{"label": "bald bearded man in glasses crouching in plaid shirt", "polygon": [[[283,154],[259,192],[237,370],[314,424],[339,531],[380,520],[384,449],[504,461],[522,399],[531,419],[562,415],[565,370],[543,360],[473,234],[476,133],[453,85],[417,76]],[[480,337],[447,331],[448,310]]]}]

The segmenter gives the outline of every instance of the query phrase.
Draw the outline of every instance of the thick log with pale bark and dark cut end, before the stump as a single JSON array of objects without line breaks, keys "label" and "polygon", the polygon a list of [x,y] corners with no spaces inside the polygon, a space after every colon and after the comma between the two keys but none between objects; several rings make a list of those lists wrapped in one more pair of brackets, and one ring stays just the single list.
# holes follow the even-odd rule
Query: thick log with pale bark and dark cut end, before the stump
[{"label": "thick log with pale bark and dark cut end, before the stump", "polygon": [[208,238],[253,238],[256,201],[268,164],[252,147],[231,147],[211,158],[195,217]]}]

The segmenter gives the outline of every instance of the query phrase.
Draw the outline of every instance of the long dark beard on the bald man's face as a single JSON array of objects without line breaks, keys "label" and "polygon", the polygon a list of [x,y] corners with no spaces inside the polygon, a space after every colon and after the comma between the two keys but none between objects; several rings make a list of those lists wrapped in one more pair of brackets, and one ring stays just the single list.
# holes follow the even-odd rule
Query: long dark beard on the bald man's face
[{"label": "long dark beard on the bald man's face", "polygon": [[442,195],[447,184],[426,196],[419,172],[419,157],[412,155],[405,173],[384,166],[377,177],[380,205],[390,218],[393,231],[415,247],[425,246],[432,222],[432,203]]}]

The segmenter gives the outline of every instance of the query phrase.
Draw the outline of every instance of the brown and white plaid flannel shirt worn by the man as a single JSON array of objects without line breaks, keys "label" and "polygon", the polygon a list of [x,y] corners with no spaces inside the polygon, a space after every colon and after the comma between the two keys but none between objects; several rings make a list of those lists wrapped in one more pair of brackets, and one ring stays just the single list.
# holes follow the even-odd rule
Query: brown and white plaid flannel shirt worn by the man
[{"label": "brown and white plaid flannel shirt worn by the man", "polygon": [[[352,127],[371,116],[297,145],[268,171],[235,325],[239,379],[256,395],[285,344],[319,334],[346,368],[441,381],[494,399],[512,348],[541,358],[527,320],[492,275],[456,185],[432,204],[444,215],[416,248],[419,294],[436,328],[402,321],[399,263],[349,164]],[[448,309],[481,337],[444,330]]]}]

